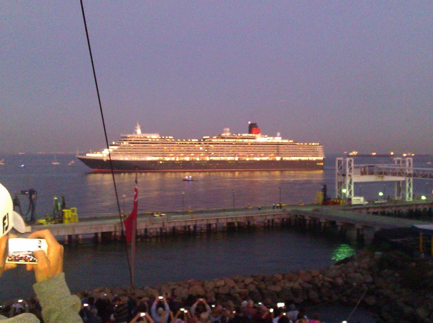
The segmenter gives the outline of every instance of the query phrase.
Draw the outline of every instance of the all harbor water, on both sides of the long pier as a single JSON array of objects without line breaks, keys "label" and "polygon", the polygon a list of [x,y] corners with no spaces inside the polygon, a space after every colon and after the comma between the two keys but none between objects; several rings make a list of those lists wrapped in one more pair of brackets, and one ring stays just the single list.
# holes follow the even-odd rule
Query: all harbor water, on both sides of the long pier
[{"label": "all harbor water, on both sides of the long pier", "polygon": [[[5,165],[0,166],[0,182],[12,195],[17,192],[24,214],[29,203],[27,196],[20,193],[28,189],[38,192],[37,217],[52,212],[54,196],[65,196],[67,206],[77,207],[80,217],[118,213],[111,174],[90,173],[78,160],[76,167],[67,166],[74,155],[58,154],[60,165],[52,165],[54,155],[47,154],[5,155],[0,159],[5,160]],[[431,167],[432,160],[430,156],[415,157],[414,167]],[[392,161],[357,157],[355,163]],[[20,168],[21,164],[25,168]],[[329,195],[335,195],[334,169],[335,156],[330,156],[324,171],[140,173],[139,212],[180,211],[182,204],[192,210],[271,205],[278,203],[280,196],[286,204],[310,203],[323,184],[328,186]],[[195,180],[182,181],[186,175]],[[115,175],[119,207],[125,213],[132,209],[134,178],[129,173]],[[414,180],[414,194],[431,194],[430,182]],[[355,186],[355,195],[367,199],[376,199],[379,191],[392,196],[393,184]],[[334,263],[348,250],[351,247],[345,241],[283,229],[165,237],[138,243],[136,285],[319,269]],[[72,291],[129,284],[124,246],[115,242],[66,246],[65,272]],[[23,267],[5,272],[0,281],[0,301],[33,294],[33,273]]]}]

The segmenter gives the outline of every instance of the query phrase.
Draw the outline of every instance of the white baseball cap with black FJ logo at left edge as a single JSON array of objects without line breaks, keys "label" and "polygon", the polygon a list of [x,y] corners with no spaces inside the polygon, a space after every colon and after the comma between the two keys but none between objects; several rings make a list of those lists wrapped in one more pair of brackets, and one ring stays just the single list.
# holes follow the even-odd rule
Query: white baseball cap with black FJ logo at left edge
[{"label": "white baseball cap with black FJ logo at left edge", "polygon": [[5,186],[0,184],[0,237],[3,237],[12,228],[23,233],[26,231],[26,223],[21,215],[14,211],[11,194]]}]

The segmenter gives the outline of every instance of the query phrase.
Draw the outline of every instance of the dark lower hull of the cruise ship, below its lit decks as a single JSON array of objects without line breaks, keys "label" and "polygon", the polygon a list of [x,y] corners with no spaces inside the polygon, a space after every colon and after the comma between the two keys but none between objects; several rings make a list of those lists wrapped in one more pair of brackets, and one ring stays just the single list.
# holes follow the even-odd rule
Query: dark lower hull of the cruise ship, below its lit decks
[{"label": "dark lower hull of the cruise ship, below its lit decks", "polygon": [[[110,172],[108,158],[77,156],[94,172]],[[323,161],[311,160],[189,160],[148,161],[112,159],[115,172],[164,172],[164,171],[252,171],[252,170],[322,170]]]}]

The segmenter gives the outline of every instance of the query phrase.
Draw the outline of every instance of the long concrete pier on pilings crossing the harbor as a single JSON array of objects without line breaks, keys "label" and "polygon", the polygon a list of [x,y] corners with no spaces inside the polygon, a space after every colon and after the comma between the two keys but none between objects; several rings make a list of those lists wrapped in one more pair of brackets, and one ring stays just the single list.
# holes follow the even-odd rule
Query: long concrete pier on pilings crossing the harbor
[{"label": "long concrete pier on pilings crossing the harbor", "polygon": [[[322,232],[338,232],[349,239],[369,243],[380,229],[430,224],[432,207],[433,201],[411,201],[362,206],[290,205],[282,209],[250,208],[164,216],[141,214],[137,218],[137,238],[212,232],[238,227],[293,226]],[[407,212],[420,210],[429,214],[427,217],[430,221],[407,216]],[[85,235],[94,235],[96,241],[102,242],[103,239],[120,239],[121,225],[119,218],[82,218],[78,223],[34,225],[31,231],[49,229],[58,238],[63,237],[65,244],[72,238],[80,243]]]}]

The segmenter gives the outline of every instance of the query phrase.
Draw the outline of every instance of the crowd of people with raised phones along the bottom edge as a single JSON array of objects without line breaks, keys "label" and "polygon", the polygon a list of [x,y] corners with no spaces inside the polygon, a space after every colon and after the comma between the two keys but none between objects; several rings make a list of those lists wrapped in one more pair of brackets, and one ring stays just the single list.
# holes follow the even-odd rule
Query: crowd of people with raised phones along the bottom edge
[{"label": "crowd of people with raised phones along the bottom edge", "polygon": [[[30,312],[41,316],[41,305],[36,297],[28,302],[17,299],[3,308],[3,315],[10,317]],[[295,304],[286,306],[277,303],[267,306],[261,302],[245,300],[240,305],[232,301],[226,303],[208,303],[205,298],[189,297],[185,302],[178,302],[165,294],[154,299],[137,300],[131,293],[128,297],[115,295],[112,299],[101,292],[98,297],[88,296],[82,299],[79,315],[85,323],[320,323],[317,314],[307,318],[303,308]]]}]

